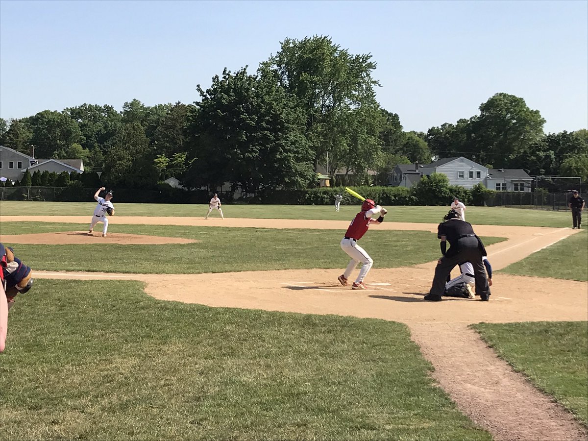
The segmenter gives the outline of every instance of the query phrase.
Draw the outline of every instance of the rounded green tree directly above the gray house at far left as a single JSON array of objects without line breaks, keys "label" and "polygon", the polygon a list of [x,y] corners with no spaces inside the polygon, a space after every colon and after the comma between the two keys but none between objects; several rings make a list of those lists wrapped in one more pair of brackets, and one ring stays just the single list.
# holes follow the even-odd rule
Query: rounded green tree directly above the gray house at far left
[{"label": "rounded green tree directly above the gray house at far left", "polygon": [[65,113],[42,111],[29,118],[31,143],[38,158],[52,158],[55,151],[81,142],[78,123]]}]

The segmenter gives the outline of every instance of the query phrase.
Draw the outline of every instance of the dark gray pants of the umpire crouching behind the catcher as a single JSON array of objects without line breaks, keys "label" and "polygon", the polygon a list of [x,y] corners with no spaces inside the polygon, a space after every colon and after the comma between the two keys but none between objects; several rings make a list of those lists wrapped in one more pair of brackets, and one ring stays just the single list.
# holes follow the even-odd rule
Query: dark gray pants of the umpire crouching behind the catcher
[{"label": "dark gray pants of the umpire crouching behind the catcher", "polygon": [[[430,293],[442,296],[447,275],[449,275],[453,267],[460,262],[471,262],[474,267],[474,278],[476,279],[476,294],[479,296],[490,295],[490,288],[486,279],[486,268],[482,263],[483,256],[478,239],[476,237],[461,238],[457,240],[455,245],[457,245],[459,253],[452,257],[443,256],[441,262],[437,263]],[[455,245],[452,243],[451,248]]]}]

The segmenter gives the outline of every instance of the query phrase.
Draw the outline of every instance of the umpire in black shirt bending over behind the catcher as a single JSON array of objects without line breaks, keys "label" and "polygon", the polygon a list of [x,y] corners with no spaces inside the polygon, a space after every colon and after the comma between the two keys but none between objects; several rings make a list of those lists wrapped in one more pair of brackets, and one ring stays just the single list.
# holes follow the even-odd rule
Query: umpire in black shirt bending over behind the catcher
[{"label": "umpire in black shirt bending over behind the catcher", "polygon": [[[486,279],[486,268],[482,263],[482,258],[486,256],[482,240],[476,236],[472,225],[461,220],[455,211],[450,211],[443,219],[445,222],[437,227],[437,238],[441,239],[443,256],[437,260],[433,286],[429,294],[425,296],[425,300],[435,302],[442,300],[445,282],[453,267],[459,262],[471,262],[476,280],[476,295],[479,295],[483,302],[487,302],[490,297],[490,288]],[[448,250],[446,241],[449,241],[450,245]]]}]

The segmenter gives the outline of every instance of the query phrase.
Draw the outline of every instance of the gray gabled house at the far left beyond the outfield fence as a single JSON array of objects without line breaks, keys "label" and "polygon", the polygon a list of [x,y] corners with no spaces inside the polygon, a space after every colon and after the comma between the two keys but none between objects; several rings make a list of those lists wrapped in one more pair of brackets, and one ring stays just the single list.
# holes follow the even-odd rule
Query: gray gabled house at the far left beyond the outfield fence
[{"label": "gray gabled house at the far left beyond the outfield fence", "polygon": [[0,146],[0,176],[11,181],[21,181],[26,169],[35,172],[83,173],[82,159],[35,159],[25,153]]}]

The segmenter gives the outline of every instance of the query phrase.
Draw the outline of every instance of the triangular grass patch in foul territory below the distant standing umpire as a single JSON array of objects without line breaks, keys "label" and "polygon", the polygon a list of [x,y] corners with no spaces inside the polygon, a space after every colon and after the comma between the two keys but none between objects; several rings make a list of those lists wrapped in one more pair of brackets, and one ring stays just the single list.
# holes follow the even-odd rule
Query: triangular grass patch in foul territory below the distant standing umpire
[{"label": "triangular grass patch in foul territory below the distant standing umpire", "polygon": [[519,276],[552,277],[585,282],[588,280],[588,234],[586,230],[583,230],[501,271]]}]

